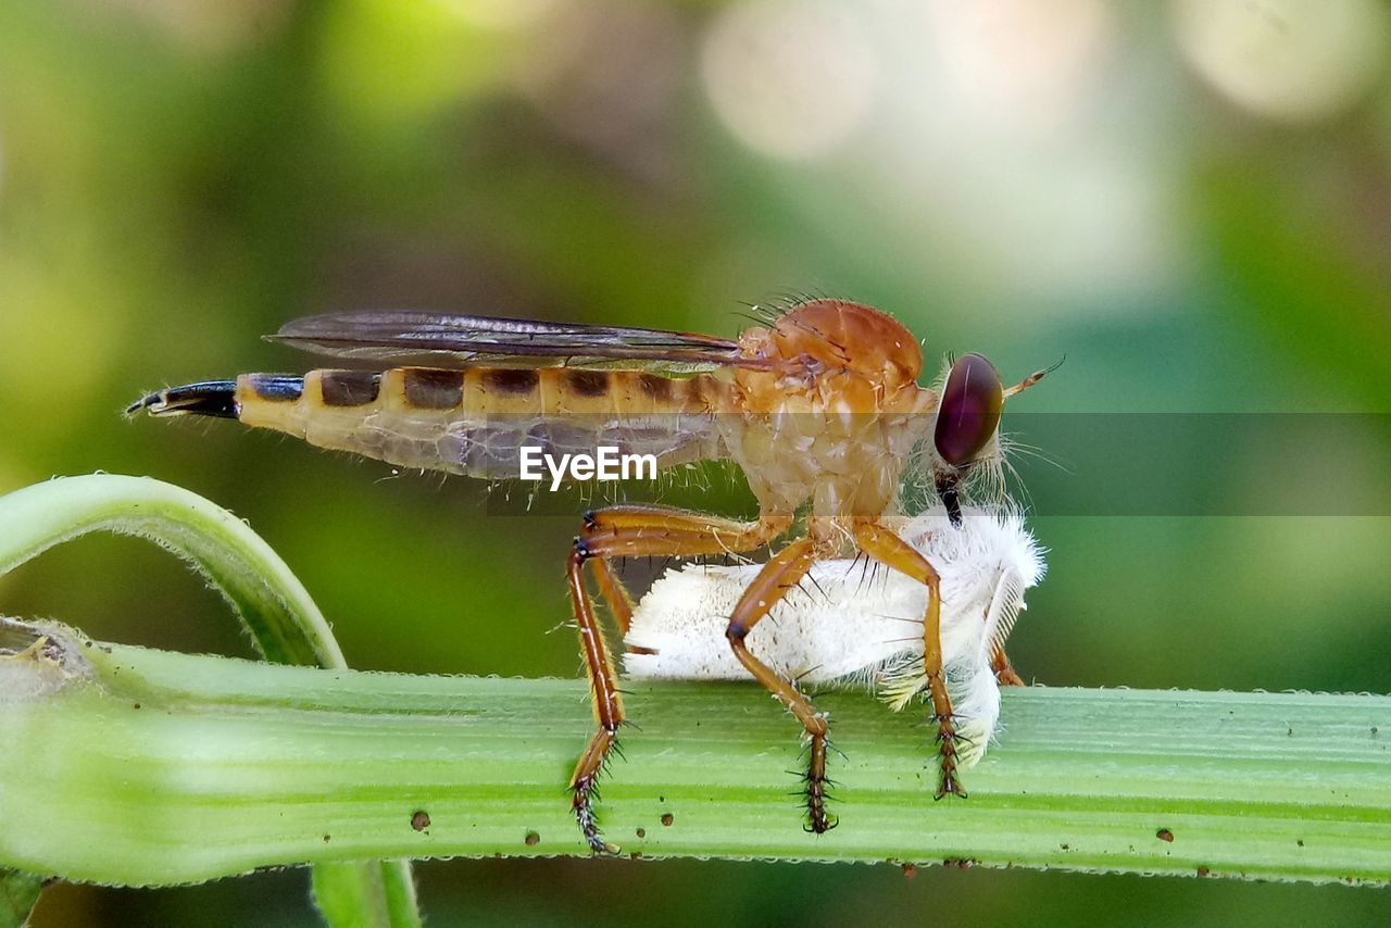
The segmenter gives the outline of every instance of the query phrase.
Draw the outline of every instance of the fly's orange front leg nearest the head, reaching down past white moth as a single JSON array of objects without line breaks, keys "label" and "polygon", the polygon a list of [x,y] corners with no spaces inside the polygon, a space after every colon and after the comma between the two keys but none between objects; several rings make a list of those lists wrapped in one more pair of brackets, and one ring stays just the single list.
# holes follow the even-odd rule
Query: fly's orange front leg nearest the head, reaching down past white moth
[{"label": "fly's orange front leg nearest the head, reaching down past white moth", "polygon": [[922,671],[928,678],[928,693],[932,697],[932,712],[938,722],[938,753],[942,757],[942,779],[938,785],[938,799],[947,793],[965,796],[957,782],[956,723],[951,712],[951,697],[947,694],[946,678],[942,672],[942,589],[936,569],[917,548],[897,533],[869,519],[854,523],[855,544],[875,561],[906,573],[928,587],[928,612],[922,619]]}]

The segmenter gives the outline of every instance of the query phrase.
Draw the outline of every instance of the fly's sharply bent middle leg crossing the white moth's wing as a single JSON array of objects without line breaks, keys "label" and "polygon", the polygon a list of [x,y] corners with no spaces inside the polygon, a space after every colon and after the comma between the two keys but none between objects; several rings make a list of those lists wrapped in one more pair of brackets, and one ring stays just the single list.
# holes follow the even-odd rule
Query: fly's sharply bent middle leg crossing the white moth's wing
[{"label": "fly's sharply bent middle leg crossing the white moth's wing", "polygon": [[826,817],[826,717],[812,708],[811,701],[790,680],[750,654],[744,644],[744,639],[758,621],[768,615],[787,590],[807,576],[817,559],[815,545],[812,538],[800,538],[764,565],[734,604],[725,637],[729,639],[729,646],[744,669],[797,717],[811,739],[811,758],[807,767],[807,829],[821,835],[835,826],[835,819]]}]

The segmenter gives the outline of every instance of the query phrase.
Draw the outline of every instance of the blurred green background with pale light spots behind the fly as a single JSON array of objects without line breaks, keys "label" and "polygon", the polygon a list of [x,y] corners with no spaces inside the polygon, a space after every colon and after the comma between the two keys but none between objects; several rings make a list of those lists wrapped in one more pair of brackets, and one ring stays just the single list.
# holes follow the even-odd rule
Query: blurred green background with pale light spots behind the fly
[{"label": "blurred green background with pale light spots behind the fly", "polygon": [[[0,491],[157,476],[246,518],[355,666],[576,675],[555,630],[573,518],[120,409],[302,370],[257,337],[312,312],[733,335],[741,302],[814,291],[893,312],[933,365],[982,351],[1010,378],[1066,353],[1028,412],[1385,413],[1388,60],[1377,0],[0,0]],[[1387,479],[1385,434],[1316,451]],[[1203,448],[1173,480],[1202,487],[1214,461],[1248,487],[1284,463]],[[1050,576],[1011,640],[1028,678],[1391,691],[1391,519],[1035,527]],[[249,654],[214,594],[127,540],[26,565],[0,609]],[[419,872],[434,924],[1388,915],[1374,890],[1014,871]],[[36,924],[302,924],[306,886],[61,886]]]}]

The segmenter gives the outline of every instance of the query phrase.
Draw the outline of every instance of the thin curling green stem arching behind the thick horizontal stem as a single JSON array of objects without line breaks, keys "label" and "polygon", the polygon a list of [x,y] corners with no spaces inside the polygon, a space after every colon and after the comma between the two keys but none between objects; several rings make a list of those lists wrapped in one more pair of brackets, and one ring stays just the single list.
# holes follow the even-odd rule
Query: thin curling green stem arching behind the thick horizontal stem
[{"label": "thin curling green stem arching behind the thick horizontal stem", "polygon": [[[92,531],[147,538],[221,591],[267,661],[348,666],[328,622],[280,555],[231,512],[188,490],[115,474],[50,480],[0,497],[0,576]],[[38,885],[26,874],[0,877],[6,885]],[[313,882],[331,925],[420,924],[408,861],[334,867],[316,872]],[[36,897],[35,889],[31,906]]]}]

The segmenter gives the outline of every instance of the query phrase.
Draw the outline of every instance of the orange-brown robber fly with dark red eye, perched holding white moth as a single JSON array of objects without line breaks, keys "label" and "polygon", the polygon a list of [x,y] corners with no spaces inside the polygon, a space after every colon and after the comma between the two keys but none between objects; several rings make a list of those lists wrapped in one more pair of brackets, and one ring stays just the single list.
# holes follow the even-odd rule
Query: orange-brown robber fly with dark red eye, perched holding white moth
[{"label": "orange-brown robber fly with dark red eye, perched holding white moth", "polygon": [[[725,637],[805,729],[807,828],[819,833],[832,824],[826,717],[746,639],[819,559],[861,554],[925,584],[922,666],[938,725],[938,796],[963,794],[942,669],[939,576],[893,527],[900,484],[914,449],[924,448],[938,497],[960,525],[965,480],[997,472],[1004,401],[1047,371],[1006,388],[985,358],[964,355],[936,388],[921,387],[918,341],[878,309],[814,299],[762,321],[729,341],[415,312],[313,316],[271,339],[389,369],[242,374],[163,390],[129,412],[239,419],[324,448],[487,479],[516,477],[523,444],[615,445],[655,454],[662,467],[732,459],[758,499],[753,522],[657,505],[584,516],[568,582],[597,730],[570,778],[572,807],[588,845],[613,850],[600,836],[593,796],[625,715],[586,565],[626,633],[633,601],[613,559],[741,554],[786,533],[791,540],[730,611]],[[789,531],[798,512],[804,531]],[[1013,675],[1003,651],[996,664]]]}]

